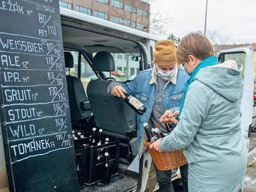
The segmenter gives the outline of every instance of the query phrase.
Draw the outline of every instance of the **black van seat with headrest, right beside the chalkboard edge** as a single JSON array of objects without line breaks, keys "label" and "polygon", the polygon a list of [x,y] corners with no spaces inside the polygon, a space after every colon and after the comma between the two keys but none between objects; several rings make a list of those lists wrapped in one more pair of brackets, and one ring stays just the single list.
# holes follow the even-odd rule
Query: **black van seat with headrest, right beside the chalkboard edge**
[{"label": "black van seat with headrest, right beside the chalkboard edge", "polygon": [[[64,52],[65,67],[73,68],[74,59],[70,52]],[[86,97],[84,87],[78,77],[67,75],[67,92],[71,111],[71,122],[73,129],[84,124],[86,118],[91,117],[91,106]],[[75,126],[75,127],[74,127]]]}]

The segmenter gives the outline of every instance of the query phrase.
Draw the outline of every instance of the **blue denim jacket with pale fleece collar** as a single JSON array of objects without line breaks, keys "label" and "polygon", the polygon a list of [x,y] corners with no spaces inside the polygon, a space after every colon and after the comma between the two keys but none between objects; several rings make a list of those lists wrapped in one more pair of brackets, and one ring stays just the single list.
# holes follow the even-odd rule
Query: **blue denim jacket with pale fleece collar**
[{"label": "blue denim jacket with pale fleece collar", "polygon": [[[123,86],[128,94],[132,94],[147,108],[147,111],[144,112],[143,115],[137,115],[138,146],[140,146],[141,137],[144,132],[143,123],[148,122],[154,105],[154,100],[157,96],[157,81],[152,70],[153,69],[151,68],[140,72],[133,81],[130,81],[130,84]],[[169,81],[168,84],[165,85],[163,94],[164,111],[167,109],[178,111],[184,94],[184,86],[188,80],[189,75],[184,70],[178,70],[176,84]]]}]

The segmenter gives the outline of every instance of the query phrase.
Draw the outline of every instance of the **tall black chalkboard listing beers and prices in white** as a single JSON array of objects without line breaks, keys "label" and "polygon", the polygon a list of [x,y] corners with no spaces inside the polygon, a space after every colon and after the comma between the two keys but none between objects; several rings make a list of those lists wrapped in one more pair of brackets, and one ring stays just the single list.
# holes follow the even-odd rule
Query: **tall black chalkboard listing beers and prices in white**
[{"label": "tall black chalkboard listing beers and prices in white", "polygon": [[78,191],[59,1],[0,0],[0,104],[11,191]]}]

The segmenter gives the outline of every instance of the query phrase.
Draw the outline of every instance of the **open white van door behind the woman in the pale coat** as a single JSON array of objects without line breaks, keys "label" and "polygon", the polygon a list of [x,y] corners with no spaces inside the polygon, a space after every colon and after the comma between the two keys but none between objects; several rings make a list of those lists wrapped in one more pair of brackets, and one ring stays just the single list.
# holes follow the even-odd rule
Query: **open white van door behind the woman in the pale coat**
[{"label": "open white van door behind the woman in the pale coat", "polygon": [[254,109],[254,51],[252,46],[239,47],[232,50],[223,50],[218,53],[220,63],[225,60],[235,60],[243,66],[241,72],[244,84],[244,92],[241,100],[241,129],[243,133],[245,149],[248,151],[250,127]]}]

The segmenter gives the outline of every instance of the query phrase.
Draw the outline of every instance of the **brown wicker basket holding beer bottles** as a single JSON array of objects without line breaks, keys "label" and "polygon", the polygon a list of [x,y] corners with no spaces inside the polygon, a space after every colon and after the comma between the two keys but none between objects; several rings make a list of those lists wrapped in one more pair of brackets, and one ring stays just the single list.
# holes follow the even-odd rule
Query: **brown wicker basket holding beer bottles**
[{"label": "brown wicker basket holding beer bottles", "polygon": [[[160,124],[158,123],[158,125]],[[157,166],[157,170],[173,170],[188,163],[182,150],[159,153],[156,150],[149,148],[151,143],[152,142],[147,142],[147,140],[145,140],[144,146],[147,146],[147,150],[150,153],[155,166]]]}]

